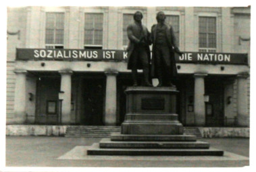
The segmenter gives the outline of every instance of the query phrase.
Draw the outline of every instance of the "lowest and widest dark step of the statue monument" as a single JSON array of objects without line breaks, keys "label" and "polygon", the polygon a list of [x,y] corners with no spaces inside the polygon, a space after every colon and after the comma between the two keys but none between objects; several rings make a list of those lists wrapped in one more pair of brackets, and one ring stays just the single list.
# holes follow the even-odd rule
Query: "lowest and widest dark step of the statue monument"
[{"label": "lowest and widest dark step of the statue monument", "polygon": [[223,156],[224,151],[209,149],[155,149],[155,148],[99,148],[95,143],[88,148],[87,155],[132,155],[132,156]]}]

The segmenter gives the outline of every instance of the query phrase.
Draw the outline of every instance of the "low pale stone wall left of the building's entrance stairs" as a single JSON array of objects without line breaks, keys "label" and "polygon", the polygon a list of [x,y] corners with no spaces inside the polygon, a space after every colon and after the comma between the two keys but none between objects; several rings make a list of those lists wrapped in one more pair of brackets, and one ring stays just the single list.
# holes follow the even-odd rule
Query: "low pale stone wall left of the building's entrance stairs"
[{"label": "low pale stone wall left of the building's entrance stairs", "polygon": [[64,136],[67,126],[7,125],[6,136]]}]

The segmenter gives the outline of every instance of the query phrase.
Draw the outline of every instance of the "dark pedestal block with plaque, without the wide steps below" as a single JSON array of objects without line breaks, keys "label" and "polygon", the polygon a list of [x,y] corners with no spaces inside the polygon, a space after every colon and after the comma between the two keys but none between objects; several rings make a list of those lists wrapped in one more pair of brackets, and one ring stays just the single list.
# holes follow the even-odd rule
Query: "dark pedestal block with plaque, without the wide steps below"
[{"label": "dark pedestal block with plaque, without the wide steps below", "polygon": [[128,87],[122,134],[183,134],[172,87]]}]

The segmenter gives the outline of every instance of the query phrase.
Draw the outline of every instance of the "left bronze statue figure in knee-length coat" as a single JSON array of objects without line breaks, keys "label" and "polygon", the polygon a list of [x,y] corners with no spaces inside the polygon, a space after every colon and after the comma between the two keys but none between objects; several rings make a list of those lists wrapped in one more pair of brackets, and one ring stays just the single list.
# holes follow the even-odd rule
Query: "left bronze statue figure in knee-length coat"
[{"label": "left bronze statue figure in knee-length coat", "polygon": [[149,82],[149,63],[150,63],[150,33],[141,22],[143,13],[134,13],[134,23],[127,27],[127,35],[130,40],[128,44],[128,69],[132,70],[133,85],[137,86],[137,69],[143,69],[145,86],[152,86]]}]

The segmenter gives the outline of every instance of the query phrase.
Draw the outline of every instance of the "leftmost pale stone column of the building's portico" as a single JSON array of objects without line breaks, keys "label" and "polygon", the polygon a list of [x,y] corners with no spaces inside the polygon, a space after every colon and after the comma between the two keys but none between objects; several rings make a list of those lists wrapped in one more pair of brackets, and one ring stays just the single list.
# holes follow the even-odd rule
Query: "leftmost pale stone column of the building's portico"
[{"label": "leftmost pale stone column of the building's portico", "polygon": [[16,73],[16,87],[14,97],[14,123],[26,122],[26,73],[27,71],[14,71]]}]

